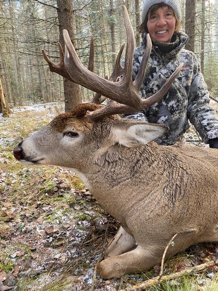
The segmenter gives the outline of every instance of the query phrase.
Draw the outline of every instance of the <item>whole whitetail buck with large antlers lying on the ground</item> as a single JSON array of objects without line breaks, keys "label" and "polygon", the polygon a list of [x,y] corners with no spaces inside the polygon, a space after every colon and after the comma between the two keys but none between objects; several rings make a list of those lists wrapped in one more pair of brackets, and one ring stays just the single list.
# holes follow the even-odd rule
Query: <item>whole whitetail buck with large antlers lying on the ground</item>
[{"label": "whole whitetail buck with large antlers lying on the ground", "polygon": [[[124,9],[125,10],[125,9]],[[79,61],[64,31],[65,56],[51,70],[112,101],[107,106],[83,104],[55,117],[14,150],[17,160],[71,168],[98,203],[121,222],[97,266],[102,278],[145,271],[167,256],[197,242],[218,241],[218,150],[197,146],[158,146],[162,125],[122,119],[164,96],[181,66],[154,96],[140,98],[151,40],[132,82],[133,31],[126,10],[127,47],[122,81],[98,77]]]}]

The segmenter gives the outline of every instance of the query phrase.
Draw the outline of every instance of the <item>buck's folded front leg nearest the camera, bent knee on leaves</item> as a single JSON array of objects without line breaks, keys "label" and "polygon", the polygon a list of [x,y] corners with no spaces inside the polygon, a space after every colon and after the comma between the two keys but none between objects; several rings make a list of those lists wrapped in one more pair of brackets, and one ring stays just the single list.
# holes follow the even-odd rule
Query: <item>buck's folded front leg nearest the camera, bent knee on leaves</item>
[{"label": "buck's folded front leg nearest the camera, bent knee on leaves", "polygon": [[97,265],[97,274],[103,279],[120,277],[124,274],[135,274],[151,269],[160,264],[162,255],[152,247],[152,250],[140,247],[113,258],[107,258]]}]

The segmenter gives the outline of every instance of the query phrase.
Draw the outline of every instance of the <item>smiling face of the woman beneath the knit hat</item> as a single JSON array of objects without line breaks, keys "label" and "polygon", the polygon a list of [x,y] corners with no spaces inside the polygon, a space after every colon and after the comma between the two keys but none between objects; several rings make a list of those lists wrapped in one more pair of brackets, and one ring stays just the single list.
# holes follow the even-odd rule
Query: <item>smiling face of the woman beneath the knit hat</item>
[{"label": "smiling face of the woman beneath the knit hat", "polygon": [[149,12],[147,28],[154,42],[170,42],[175,31],[176,18],[167,6]]}]

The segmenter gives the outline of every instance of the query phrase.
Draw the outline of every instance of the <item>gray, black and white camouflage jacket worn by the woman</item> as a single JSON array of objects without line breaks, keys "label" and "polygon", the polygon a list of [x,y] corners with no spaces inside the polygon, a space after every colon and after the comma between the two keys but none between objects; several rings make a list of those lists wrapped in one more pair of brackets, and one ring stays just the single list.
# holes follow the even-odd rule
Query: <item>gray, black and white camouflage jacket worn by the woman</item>
[{"label": "gray, black and white camouflage jacket worn by the woman", "polygon": [[[181,139],[189,128],[189,119],[207,144],[209,139],[218,138],[218,116],[209,106],[209,93],[195,54],[183,49],[188,36],[183,32],[179,32],[178,36],[179,46],[170,53],[163,55],[157,47],[152,47],[145,79],[140,88],[142,98],[155,94],[183,62],[184,67],[168,93],[143,112],[125,117],[167,125],[169,131],[156,139],[158,144],[165,146],[173,145]],[[146,33],[142,35],[141,46],[134,51],[133,80],[137,76],[145,47]]]}]

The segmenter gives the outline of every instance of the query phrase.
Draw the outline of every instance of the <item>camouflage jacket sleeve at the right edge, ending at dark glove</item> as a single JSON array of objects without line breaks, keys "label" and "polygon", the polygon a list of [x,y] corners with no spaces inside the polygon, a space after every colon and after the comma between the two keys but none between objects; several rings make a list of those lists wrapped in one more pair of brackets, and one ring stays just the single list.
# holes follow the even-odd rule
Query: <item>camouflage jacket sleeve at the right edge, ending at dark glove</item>
[{"label": "camouflage jacket sleeve at the right edge, ending at dark glove", "polygon": [[197,129],[205,144],[218,138],[218,116],[209,106],[209,92],[203,80],[200,64],[194,55],[193,78],[188,94],[187,117]]}]

